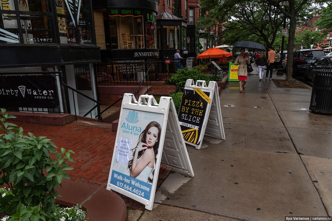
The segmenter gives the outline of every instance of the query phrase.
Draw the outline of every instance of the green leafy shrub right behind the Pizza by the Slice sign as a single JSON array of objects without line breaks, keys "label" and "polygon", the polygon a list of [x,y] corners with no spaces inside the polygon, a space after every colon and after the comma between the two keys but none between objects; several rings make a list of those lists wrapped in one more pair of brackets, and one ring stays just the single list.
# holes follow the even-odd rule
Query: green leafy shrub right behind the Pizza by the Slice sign
[{"label": "green leafy shrub right behind the Pizza by the Slice sign", "polygon": [[210,78],[196,67],[190,70],[188,68],[181,68],[169,79],[168,83],[176,86],[175,92],[183,92],[187,79],[193,79],[195,83],[197,80],[203,80],[208,84]]}]

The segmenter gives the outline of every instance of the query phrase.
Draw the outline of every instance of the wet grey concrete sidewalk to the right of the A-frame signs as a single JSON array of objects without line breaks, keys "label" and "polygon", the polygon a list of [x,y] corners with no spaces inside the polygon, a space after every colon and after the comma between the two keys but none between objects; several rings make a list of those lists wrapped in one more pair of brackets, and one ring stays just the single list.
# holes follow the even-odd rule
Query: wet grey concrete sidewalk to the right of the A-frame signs
[{"label": "wet grey concrete sidewalk to the right of the A-frame signs", "polygon": [[[152,211],[130,220],[285,220],[332,215],[332,116],[309,112],[311,89],[229,82],[220,94],[226,140],[187,146],[195,177],[172,172]],[[277,76],[274,79],[285,79]]]}]

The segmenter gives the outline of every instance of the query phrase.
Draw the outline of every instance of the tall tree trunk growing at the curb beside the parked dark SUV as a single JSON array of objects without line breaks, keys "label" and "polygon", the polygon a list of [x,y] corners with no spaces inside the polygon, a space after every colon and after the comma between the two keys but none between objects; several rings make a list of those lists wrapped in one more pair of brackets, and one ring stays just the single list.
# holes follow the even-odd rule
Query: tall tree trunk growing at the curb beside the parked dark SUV
[{"label": "tall tree trunk growing at the curb beside the parked dark SUV", "polygon": [[288,32],[288,45],[287,45],[287,69],[286,69],[286,81],[291,81],[293,77],[293,50],[296,28],[296,15],[293,9],[290,7],[290,29]]}]

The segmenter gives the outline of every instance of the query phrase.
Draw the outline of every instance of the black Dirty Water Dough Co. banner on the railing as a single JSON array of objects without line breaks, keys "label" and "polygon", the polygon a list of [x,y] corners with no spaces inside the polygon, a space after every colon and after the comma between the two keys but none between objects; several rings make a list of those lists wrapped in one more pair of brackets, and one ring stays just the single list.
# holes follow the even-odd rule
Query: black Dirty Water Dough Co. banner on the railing
[{"label": "black Dirty Water Dough Co. banner on the railing", "polygon": [[53,76],[0,76],[2,107],[58,108]]}]

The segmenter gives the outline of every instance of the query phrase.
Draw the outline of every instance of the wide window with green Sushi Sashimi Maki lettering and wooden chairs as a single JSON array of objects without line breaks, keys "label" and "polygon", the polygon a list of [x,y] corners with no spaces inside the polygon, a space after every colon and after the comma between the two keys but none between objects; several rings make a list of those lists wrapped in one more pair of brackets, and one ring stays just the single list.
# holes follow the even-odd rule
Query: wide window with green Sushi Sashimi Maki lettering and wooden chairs
[{"label": "wide window with green Sushi Sashimi Maki lettering and wooden chairs", "polygon": [[134,9],[110,9],[112,49],[144,48],[143,12]]}]

